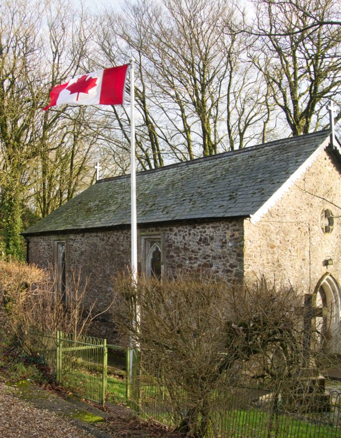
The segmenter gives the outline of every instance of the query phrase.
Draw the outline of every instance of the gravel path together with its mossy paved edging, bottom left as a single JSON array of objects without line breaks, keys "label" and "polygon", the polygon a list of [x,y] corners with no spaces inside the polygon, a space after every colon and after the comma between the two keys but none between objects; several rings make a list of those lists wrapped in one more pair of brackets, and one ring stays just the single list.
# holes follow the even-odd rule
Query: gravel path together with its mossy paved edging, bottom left
[{"label": "gravel path together with its mossy paved edging, bottom left", "polygon": [[[5,330],[5,322],[0,308],[0,329]],[[0,332],[0,361],[2,350]],[[74,397],[59,397],[28,380],[8,386],[0,374],[1,438],[112,438],[88,423],[95,417],[103,421],[109,415]]]}]

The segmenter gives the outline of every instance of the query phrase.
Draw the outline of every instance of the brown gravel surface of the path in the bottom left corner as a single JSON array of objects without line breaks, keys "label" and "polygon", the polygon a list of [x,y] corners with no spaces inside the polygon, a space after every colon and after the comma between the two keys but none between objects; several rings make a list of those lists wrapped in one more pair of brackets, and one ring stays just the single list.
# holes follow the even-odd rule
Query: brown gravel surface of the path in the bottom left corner
[{"label": "brown gravel surface of the path in the bottom left corner", "polygon": [[14,391],[0,383],[1,438],[94,438],[72,426],[71,420],[22,402]]}]

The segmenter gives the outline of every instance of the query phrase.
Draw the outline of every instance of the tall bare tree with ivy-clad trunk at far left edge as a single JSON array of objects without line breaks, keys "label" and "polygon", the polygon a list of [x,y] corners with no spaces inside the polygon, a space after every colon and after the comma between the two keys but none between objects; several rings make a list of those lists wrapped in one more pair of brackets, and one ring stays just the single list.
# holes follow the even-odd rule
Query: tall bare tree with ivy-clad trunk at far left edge
[{"label": "tall bare tree with ivy-clad trunk at far left edge", "polygon": [[17,0],[0,5],[0,147],[1,210],[5,252],[21,256],[23,179],[32,158],[31,130],[42,82],[39,52],[41,5]]}]

